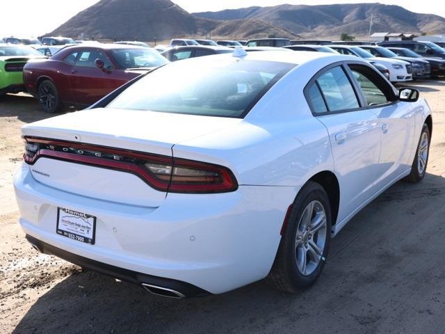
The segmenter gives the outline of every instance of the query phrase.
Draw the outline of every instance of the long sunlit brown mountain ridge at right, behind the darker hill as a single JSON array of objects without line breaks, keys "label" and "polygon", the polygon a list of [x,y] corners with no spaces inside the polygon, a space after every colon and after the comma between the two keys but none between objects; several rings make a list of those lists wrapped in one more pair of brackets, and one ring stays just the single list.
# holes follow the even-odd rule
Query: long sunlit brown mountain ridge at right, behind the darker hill
[{"label": "long sunlit brown mountain ridge at right, behind the darker hill", "polygon": [[280,5],[193,13],[193,15],[223,20],[259,19],[293,33],[314,36],[339,35],[339,33],[367,35],[372,15],[373,31],[445,33],[444,17],[413,13],[400,6],[381,3]]}]

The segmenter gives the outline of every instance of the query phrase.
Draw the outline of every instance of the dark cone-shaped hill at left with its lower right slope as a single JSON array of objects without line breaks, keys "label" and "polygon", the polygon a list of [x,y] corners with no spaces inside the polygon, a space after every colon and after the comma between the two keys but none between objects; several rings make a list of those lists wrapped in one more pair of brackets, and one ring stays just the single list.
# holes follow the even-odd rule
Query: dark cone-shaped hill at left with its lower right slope
[{"label": "dark cone-shaped hill at left with its lower right slope", "polygon": [[223,22],[196,17],[170,0],[102,0],[83,10],[48,35],[95,39],[167,40],[211,33],[227,38],[296,34],[258,19]]}]

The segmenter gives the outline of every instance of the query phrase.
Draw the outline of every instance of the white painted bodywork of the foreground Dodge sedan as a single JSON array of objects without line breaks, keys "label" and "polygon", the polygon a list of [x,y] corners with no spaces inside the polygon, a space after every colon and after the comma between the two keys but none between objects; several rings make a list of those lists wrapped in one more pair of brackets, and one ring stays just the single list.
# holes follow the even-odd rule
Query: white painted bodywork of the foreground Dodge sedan
[{"label": "white painted bodywork of the foreground Dodge sedan", "polygon": [[[218,57],[231,56],[178,63],[199,67]],[[267,276],[287,209],[317,173],[328,171],[339,181],[333,236],[410,173],[430,116],[425,101],[318,117],[307,104],[303,90],[323,67],[339,61],[370,67],[366,60],[304,51],[253,52],[244,59],[298,64],[245,118],[106,108],[49,118],[22,130],[24,136],[219,164],[234,173],[236,191],[165,193],[117,170],[41,158],[33,166],[24,163],[14,178],[24,232],[91,260],[219,294]],[[57,207],[96,216],[96,244],[56,234]]]}]

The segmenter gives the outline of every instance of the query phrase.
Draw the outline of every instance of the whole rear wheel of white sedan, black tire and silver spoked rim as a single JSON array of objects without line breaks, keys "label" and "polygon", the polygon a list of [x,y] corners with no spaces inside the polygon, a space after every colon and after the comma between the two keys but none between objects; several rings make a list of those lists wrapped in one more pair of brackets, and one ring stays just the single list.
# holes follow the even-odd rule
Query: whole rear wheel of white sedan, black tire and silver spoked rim
[{"label": "whole rear wheel of white sedan, black tire and silver spoked rim", "polygon": [[268,282],[291,293],[313,285],[323,271],[330,232],[327,193],[320,184],[309,181],[293,202]]}]

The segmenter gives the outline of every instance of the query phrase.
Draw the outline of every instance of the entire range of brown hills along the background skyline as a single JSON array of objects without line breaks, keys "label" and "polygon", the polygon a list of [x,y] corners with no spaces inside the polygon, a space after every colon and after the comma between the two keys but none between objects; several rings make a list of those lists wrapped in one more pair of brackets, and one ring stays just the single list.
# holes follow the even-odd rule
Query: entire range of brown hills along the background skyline
[{"label": "entire range of brown hills along the background skyline", "polygon": [[298,38],[367,35],[373,31],[445,33],[445,19],[400,6],[355,3],[323,6],[250,7],[193,15],[170,0],[102,0],[48,35],[110,40],[168,40],[208,35],[219,38]]}]

